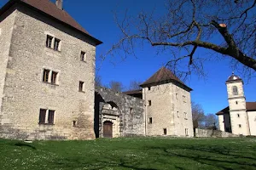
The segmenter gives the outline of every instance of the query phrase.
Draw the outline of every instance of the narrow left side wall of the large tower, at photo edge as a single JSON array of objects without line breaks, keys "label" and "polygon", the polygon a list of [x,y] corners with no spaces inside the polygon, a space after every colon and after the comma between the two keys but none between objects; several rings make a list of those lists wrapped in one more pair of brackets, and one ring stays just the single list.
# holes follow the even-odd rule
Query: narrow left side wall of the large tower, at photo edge
[{"label": "narrow left side wall of the large tower, at photo edge", "polygon": [[[2,99],[3,85],[6,76],[7,63],[9,60],[9,47],[16,14],[16,12],[13,11],[14,8],[12,8],[8,13],[2,14],[0,17],[0,125],[6,122],[3,119]],[[11,14],[11,12],[13,13]]]}]

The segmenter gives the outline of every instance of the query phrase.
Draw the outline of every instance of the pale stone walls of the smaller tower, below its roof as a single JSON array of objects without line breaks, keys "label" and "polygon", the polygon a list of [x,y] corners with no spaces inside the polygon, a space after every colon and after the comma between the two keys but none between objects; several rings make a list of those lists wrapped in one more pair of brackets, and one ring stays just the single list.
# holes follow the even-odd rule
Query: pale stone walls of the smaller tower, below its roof
[{"label": "pale stone walls of the smaller tower, below its roof", "polygon": [[[186,100],[183,100],[186,96]],[[166,83],[143,88],[143,99],[146,102],[146,133],[147,135],[193,136],[190,93],[173,83]],[[148,101],[151,100],[151,105]],[[177,114],[178,111],[178,114]],[[187,116],[184,116],[184,113]],[[149,122],[150,117],[152,123]]]}]

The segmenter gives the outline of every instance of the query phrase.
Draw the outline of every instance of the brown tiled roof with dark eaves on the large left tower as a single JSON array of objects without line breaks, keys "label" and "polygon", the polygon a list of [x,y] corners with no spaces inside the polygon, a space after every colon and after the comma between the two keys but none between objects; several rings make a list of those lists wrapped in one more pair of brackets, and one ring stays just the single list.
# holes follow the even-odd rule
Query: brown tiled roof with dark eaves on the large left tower
[{"label": "brown tiled roof with dark eaves on the large left tower", "polygon": [[67,14],[65,10],[61,10],[57,8],[55,3],[51,3],[49,0],[9,0],[3,8],[0,9],[0,15],[3,14],[6,10],[8,10],[15,3],[25,4],[27,7],[37,10],[47,16],[60,21],[62,24],[66,26],[71,26],[76,31],[83,33],[85,36],[90,37],[91,40],[96,42],[96,45],[101,44],[100,40],[97,40],[95,37],[90,36],[89,32],[84,30],[79,23],[73,19],[72,16]]}]

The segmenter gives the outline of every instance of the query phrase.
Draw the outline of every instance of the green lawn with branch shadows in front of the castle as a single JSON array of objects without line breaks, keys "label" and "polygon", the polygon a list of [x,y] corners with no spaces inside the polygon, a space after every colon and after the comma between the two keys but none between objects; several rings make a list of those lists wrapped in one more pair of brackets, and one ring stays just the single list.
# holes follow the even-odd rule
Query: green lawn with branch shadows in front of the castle
[{"label": "green lawn with branch shadows in front of the castle", "polygon": [[0,169],[256,169],[256,138],[0,139]]}]

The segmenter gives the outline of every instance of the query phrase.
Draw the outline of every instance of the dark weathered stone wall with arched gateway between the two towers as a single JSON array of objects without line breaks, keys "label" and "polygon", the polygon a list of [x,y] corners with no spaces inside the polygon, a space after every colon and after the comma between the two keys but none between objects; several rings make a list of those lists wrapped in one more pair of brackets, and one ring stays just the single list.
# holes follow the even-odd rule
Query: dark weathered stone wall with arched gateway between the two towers
[{"label": "dark weathered stone wall with arched gateway between the two towers", "polygon": [[137,99],[119,92],[114,92],[108,88],[96,87],[96,137],[102,137],[102,121],[111,118],[109,116],[105,116],[105,118],[102,117],[103,105],[107,103],[113,105],[113,107],[117,107],[117,118],[114,118],[114,115],[110,116],[112,116],[113,122],[119,123],[119,136],[135,136],[145,134],[143,99]]}]

